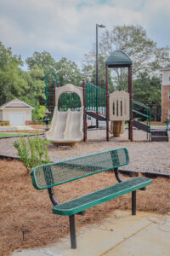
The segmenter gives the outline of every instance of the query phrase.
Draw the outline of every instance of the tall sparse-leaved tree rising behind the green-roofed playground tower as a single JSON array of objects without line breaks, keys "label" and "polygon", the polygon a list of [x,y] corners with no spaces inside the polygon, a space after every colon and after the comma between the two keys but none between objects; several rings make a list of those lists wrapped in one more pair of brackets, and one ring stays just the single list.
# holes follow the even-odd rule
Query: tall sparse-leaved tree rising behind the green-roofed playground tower
[{"label": "tall sparse-leaved tree rising behind the green-roofed playground tower", "polygon": [[[156,42],[147,37],[142,26],[114,26],[111,32],[105,31],[100,39],[99,55],[106,60],[116,49],[124,51],[132,59],[133,79],[140,73],[157,76],[159,68],[170,61],[169,48],[158,48]],[[94,63],[95,48],[86,55],[83,70],[89,65],[94,68]],[[113,69],[111,75],[117,90],[127,90],[127,68]]]}]

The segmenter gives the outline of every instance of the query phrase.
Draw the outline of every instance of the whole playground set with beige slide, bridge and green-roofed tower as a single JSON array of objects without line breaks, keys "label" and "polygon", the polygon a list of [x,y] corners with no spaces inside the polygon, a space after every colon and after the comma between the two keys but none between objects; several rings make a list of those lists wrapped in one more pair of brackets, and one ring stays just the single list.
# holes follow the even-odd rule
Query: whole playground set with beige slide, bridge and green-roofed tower
[{"label": "whole playground set with beige slide, bridge and green-roofed tower", "polygon": [[[115,137],[120,136],[122,131],[124,131],[123,125],[125,121],[128,122],[128,139],[130,141],[133,141],[133,126],[139,130],[145,131],[148,141],[150,141],[150,139],[151,141],[156,140],[155,134],[157,131],[150,130],[150,108],[142,103],[133,101],[132,64],[133,62],[124,52],[116,50],[105,61],[105,90],[94,84],[85,84],[83,80],[82,87],[71,85],[79,88],[79,91],[82,91],[81,96],[77,95],[76,91],[71,90],[73,87],[69,90],[60,90],[59,82],[56,84],[56,81],[54,81],[56,91],[54,118],[52,120],[52,127],[47,133],[47,138],[53,138],[54,143],[59,143],[59,141],[60,143],[62,143],[62,141],[63,143],[64,141],[65,143],[66,141],[68,141],[68,143],[74,143],[81,141],[83,134],[83,141],[86,142],[88,115],[99,121],[106,122],[107,141],[109,141],[109,132],[113,133]],[[108,68],[112,67],[128,68],[128,93],[115,91],[109,95]],[[63,87],[65,86],[61,88]],[[77,121],[76,117],[77,119],[83,119],[83,124],[82,121]],[[59,125],[55,127],[56,122],[60,123],[60,118],[63,119],[63,121],[61,121],[63,127],[66,125],[65,131],[64,128],[63,130],[59,128]],[[72,121],[70,122],[69,119]],[[145,123],[141,122],[144,120],[146,120]],[[73,121],[75,122],[76,130],[73,128]],[[109,127],[109,122],[111,122],[111,127]],[[68,125],[71,126],[70,129]],[[79,136],[76,136],[77,131],[80,131]],[[74,133],[76,137],[73,137]],[[166,137],[166,140],[167,139],[168,137]]]}]

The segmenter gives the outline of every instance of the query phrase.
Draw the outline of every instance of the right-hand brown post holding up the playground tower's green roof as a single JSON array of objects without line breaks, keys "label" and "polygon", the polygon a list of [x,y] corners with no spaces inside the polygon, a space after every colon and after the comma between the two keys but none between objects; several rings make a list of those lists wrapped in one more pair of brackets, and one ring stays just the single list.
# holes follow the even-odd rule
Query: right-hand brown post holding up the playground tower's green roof
[{"label": "right-hand brown post holding up the playground tower's green roof", "polygon": [[130,97],[130,120],[128,123],[128,138],[133,142],[133,66],[128,67],[128,93]]}]

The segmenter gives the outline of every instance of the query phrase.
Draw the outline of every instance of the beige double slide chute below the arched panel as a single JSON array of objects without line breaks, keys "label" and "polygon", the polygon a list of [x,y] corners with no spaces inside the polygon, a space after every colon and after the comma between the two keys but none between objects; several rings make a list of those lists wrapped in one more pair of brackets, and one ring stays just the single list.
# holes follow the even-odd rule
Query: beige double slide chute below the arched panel
[{"label": "beige double slide chute below the arched panel", "polygon": [[45,133],[46,139],[53,143],[77,143],[83,138],[82,132],[83,110],[59,111],[54,108],[51,128]]}]

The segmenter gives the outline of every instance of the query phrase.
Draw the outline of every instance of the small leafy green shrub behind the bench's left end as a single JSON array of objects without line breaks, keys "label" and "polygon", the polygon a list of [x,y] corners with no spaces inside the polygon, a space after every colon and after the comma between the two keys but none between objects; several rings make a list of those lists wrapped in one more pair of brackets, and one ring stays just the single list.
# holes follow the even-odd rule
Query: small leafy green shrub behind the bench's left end
[{"label": "small leafy green shrub behind the bench's left end", "polygon": [[31,168],[34,166],[40,166],[50,162],[48,157],[48,143],[48,141],[42,140],[38,136],[33,139],[28,137],[27,141],[25,137],[20,137],[20,142],[14,142],[14,148],[17,148],[20,160],[26,166],[28,172],[31,172]]}]

